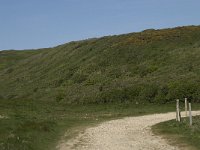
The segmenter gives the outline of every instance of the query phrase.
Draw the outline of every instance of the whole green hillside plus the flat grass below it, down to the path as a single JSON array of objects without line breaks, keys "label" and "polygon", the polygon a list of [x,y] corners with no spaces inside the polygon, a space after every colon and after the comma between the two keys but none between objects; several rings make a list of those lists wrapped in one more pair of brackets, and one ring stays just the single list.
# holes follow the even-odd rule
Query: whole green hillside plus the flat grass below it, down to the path
[{"label": "whole green hillside plus the flat grass below it, down to the path", "polygon": [[199,52],[200,26],[1,51],[0,149],[55,149],[65,131],[199,102]]}]

